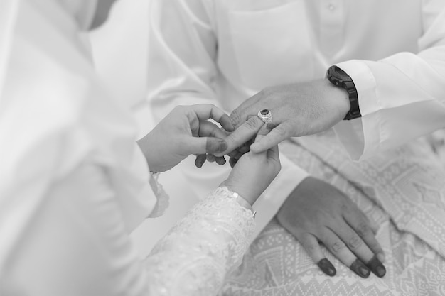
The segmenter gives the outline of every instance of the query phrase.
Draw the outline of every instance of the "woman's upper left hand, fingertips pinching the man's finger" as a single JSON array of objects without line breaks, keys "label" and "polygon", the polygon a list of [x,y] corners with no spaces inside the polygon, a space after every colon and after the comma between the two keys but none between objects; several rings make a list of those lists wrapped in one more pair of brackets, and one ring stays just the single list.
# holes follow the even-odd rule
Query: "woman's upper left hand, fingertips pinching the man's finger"
[{"label": "woman's upper left hand, fingertips pinching the man's finger", "polygon": [[165,172],[191,154],[220,153],[227,149],[226,131],[233,131],[229,116],[211,104],[176,106],[150,133],[138,141],[149,168]]}]

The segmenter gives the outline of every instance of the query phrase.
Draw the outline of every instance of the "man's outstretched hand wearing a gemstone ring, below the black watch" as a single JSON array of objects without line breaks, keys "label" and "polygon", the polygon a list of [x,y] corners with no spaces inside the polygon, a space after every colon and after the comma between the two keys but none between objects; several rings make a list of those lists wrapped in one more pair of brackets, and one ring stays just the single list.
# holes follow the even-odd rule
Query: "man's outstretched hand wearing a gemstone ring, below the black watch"
[{"label": "man's outstretched hand wearing a gemstone ring, below the black watch", "polygon": [[[260,152],[293,136],[306,136],[331,128],[350,109],[348,93],[327,79],[285,84],[267,89],[245,100],[230,114],[236,130],[227,138],[227,151],[249,141],[262,126],[258,111],[269,109],[272,131],[250,149]],[[257,118],[254,118],[254,117]],[[226,153],[227,153],[226,151]]]}]

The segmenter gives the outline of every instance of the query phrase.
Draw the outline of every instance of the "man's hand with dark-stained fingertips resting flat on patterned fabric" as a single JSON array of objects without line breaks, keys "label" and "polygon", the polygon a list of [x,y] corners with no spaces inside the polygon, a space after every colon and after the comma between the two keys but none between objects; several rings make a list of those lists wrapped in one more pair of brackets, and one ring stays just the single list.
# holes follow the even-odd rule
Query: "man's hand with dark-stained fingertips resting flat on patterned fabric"
[{"label": "man's hand with dark-stained fingertips resting flat on patterned fabric", "polygon": [[380,278],[385,275],[385,255],[375,239],[374,226],[332,185],[307,177],[286,199],[277,219],[323,273],[336,275],[336,268],[323,256],[319,242],[360,277],[368,278],[370,271]]}]

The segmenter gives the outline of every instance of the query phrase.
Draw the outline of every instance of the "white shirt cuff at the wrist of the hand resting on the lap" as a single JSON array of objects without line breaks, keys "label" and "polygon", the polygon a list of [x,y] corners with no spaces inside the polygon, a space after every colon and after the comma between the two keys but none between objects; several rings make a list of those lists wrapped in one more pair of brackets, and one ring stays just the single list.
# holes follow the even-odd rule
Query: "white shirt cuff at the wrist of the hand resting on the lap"
[{"label": "white shirt cuff at the wrist of the hand resting on the lap", "polygon": [[285,155],[280,155],[279,158],[282,163],[282,170],[253,205],[253,208],[257,211],[255,216],[257,228],[252,239],[255,239],[269,224],[279,208],[282,207],[283,202],[289,197],[289,194],[309,175],[308,172],[295,165]]}]

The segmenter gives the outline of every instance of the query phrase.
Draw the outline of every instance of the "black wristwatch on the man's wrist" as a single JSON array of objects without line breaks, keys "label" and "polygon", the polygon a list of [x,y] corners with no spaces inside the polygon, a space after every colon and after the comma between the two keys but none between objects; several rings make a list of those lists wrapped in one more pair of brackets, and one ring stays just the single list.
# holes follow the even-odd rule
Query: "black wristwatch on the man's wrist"
[{"label": "black wristwatch on the man's wrist", "polygon": [[357,89],[352,78],[337,66],[331,66],[326,72],[326,78],[336,87],[343,87],[349,94],[350,109],[343,120],[356,119],[361,117],[358,106]]}]

